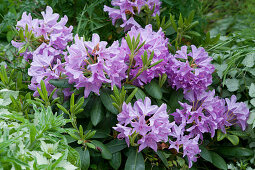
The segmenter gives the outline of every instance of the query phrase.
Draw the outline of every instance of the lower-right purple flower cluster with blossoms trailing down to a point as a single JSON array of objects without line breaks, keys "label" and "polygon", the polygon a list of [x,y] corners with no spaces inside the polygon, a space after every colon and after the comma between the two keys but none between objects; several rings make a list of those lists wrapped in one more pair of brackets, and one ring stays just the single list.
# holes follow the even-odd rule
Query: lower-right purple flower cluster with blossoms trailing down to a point
[{"label": "lower-right purple flower cluster with blossoms trailing down to a point", "polygon": [[[191,161],[196,161],[194,155],[200,152],[198,146],[195,145],[198,142],[198,138],[203,140],[204,133],[210,133],[211,137],[214,137],[217,129],[226,133],[226,127],[232,125],[240,125],[242,130],[245,130],[249,109],[245,103],[236,102],[234,95],[231,100],[224,100],[215,96],[214,91],[192,91],[186,93],[185,98],[190,103],[180,103],[183,109],[177,109],[172,114],[178,126],[174,127],[177,135],[172,136],[177,137],[175,137],[176,141],[170,141],[170,148],[178,151],[178,146],[182,144],[184,154],[186,153],[189,159],[189,166],[192,166]],[[178,134],[181,135],[178,136]],[[187,137],[183,138],[183,134],[186,134]],[[185,149],[185,143],[187,144],[185,140],[189,140],[188,143],[194,146],[187,146],[190,149]]]}]

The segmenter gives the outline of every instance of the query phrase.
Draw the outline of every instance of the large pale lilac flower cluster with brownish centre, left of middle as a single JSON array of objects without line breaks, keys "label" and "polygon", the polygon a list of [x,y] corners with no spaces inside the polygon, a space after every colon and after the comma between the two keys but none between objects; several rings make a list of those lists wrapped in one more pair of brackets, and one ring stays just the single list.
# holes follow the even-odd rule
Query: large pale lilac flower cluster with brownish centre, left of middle
[{"label": "large pale lilac flower cluster with brownish centre, left of middle", "polygon": [[112,88],[121,87],[121,80],[126,78],[125,51],[120,49],[118,41],[108,48],[106,45],[99,35],[93,34],[92,41],[84,41],[76,35],[75,43],[68,47],[65,74],[76,88],[85,87],[85,97],[90,92],[99,94],[103,83],[111,83]]}]

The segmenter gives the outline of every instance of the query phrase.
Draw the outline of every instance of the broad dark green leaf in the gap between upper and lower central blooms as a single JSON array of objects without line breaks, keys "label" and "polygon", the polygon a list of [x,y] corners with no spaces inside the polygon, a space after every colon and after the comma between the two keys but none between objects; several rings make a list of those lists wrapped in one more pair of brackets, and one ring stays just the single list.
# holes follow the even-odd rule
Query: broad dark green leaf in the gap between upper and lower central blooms
[{"label": "broad dark green leaf in the gap between upper and lower central blooms", "polygon": [[152,80],[151,83],[145,85],[145,90],[150,96],[154,97],[155,99],[162,98],[161,88],[155,80]]}]

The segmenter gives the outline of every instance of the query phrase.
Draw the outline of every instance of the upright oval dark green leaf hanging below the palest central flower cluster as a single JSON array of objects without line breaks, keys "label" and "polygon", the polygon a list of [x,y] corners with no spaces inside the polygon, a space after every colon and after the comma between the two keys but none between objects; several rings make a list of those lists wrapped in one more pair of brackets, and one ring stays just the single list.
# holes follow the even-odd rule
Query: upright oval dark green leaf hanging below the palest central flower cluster
[{"label": "upright oval dark green leaf hanging below the palest central flower cluster", "polygon": [[90,118],[94,126],[96,126],[103,118],[102,103],[99,98],[96,99],[95,104],[92,106]]}]

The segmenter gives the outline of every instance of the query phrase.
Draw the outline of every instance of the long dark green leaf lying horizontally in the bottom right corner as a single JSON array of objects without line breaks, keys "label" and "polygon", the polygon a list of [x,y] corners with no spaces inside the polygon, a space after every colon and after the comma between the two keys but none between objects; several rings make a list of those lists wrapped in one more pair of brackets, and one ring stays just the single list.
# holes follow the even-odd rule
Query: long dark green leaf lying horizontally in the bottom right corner
[{"label": "long dark green leaf lying horizontally in the bottom right corner", "polygon": [[253,156],[252,150],[243,147],[221,146],[216,151],[224,156],[231,156],[234,158]]}]

